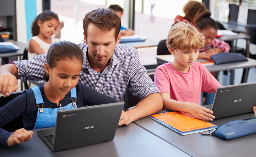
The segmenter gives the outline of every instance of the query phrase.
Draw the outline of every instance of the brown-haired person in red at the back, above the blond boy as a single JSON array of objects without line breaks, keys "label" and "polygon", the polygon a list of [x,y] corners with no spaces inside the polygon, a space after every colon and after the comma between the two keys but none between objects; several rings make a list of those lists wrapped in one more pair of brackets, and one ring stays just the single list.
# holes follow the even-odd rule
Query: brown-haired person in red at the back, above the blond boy
[{"label": "brown-haired person in red at the back, above the blond boy", "polygon": [[205,4],[198,1],[189,1],[183,7],[183,12],[185,16],[177,15],[174,19],[174,24],[181,22],[183,20],[188,21],[191,25],[196,26],[196,18],[202,13],[208,11]]}]

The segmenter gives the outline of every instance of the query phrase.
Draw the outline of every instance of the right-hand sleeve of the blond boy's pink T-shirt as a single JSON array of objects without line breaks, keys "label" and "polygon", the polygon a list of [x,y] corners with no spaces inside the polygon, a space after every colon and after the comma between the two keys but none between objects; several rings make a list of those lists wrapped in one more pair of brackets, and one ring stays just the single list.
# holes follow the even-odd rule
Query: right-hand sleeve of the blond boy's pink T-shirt
[{"label": "right-hand sleeve of the blond boy's pink T-shirt", "polygon": [[200,65],[202,71],[202,93],[214,93],[221,84],[214,78],[213,75],[206,69],[205,66]]}]

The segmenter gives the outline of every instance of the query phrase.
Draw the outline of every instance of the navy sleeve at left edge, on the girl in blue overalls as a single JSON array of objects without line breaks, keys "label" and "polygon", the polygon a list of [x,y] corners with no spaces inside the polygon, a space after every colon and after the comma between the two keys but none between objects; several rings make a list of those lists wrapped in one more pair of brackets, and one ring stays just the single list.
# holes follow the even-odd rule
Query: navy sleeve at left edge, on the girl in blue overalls
[{"label": "navy sleeve at left edge, on the girl in blue overalls", "polygon": [[[26,101],[26,93],[23,93],[2,106],[0,108],[0,127],[26,112]],[[0,128],[0,144],[7,146],[7,139],[12,133]]]}]

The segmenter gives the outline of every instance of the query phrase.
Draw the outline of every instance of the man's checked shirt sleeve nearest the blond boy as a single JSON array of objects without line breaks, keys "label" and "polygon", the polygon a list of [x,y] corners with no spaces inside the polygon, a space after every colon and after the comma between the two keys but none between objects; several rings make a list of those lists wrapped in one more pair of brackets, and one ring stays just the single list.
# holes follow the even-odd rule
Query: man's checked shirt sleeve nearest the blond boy
[{"label": "man's checked shirt sleeve nearest the blond boy", "polygon": [[147,75],[146,68],[142,66],[136,49],[131,56],[129,70],[131,70],[131,79],[128,83],[128,90],[131,91],[132,95],[138,97],[139,100],[142,100],[149,94],[159,93],[157,86],[149,75]]}]

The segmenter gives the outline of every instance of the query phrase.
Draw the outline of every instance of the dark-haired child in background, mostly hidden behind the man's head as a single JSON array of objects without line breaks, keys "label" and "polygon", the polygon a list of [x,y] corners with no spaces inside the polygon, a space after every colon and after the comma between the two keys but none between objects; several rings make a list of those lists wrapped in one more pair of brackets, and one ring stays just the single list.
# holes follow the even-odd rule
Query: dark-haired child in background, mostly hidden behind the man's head
[{"label": "dark-haired child in background, mostly hidden behind the man's head", "polygon": [[[115,13],[117,13],[117,15],[119,15],[120,18],[122,18],[122,15],[124,14],[124,10],[123,8],[121,8],[119,5],[117,4],[112,4],[109,6],[110,9],[114,10]],[[125,36],[128,36],[128,35],[134,35],[134,30],[132,29],[129,29],[129,28],[125,28],[123,26],[121,26],[121,29],[120,29],[120,33],[121,35],[125,35]]]}]

